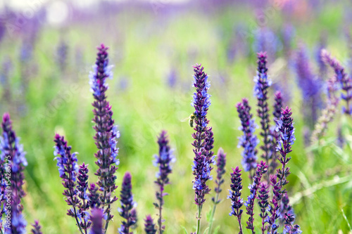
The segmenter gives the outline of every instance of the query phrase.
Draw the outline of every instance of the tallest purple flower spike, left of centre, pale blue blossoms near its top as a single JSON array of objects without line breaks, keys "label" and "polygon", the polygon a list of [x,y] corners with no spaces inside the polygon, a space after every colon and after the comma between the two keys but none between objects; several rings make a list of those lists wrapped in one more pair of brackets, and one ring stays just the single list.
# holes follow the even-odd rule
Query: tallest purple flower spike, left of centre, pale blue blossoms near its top
[{"label": "tallest purple flower spike, left of centre, pale blue blossoms near its top", "polygon": [[115,185],[115,172],[118,169],[116,165],[119,164],[116,144],[117,138],[120,136],[118,126],[114,125],[111,105],[106,100],[106,90],[108,89],[106,78],[113,76],[111,72],[112,66],[108,65],[107,49],[108,47],[103,44],[99,46],[96,64],[93,66],[94,72],[89,74],[89,84],[94,97],[94,102],[92,103],[94,107],[94,130],[96,131],[94,140],[98,148],[95,157],[99,169],[95,175],[99,176],[97,184],[102,192],[100,200],[105,208],[104,213],[107,215],[105,230],[108,228],[108,222],[113,218],[113,215],[111,215],[111,204],[118,200],[113,195],[113,191],[118,188]]}]

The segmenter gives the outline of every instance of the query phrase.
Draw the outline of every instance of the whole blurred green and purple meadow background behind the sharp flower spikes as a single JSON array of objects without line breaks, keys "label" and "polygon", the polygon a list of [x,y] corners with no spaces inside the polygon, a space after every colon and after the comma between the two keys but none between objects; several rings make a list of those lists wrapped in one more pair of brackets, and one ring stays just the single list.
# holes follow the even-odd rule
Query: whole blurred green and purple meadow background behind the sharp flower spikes
[{"label": "whole blurred green and purple meadow background behind the sharp flower spikes", "polygon": [[[312,106],[302,94],[310,87],[300,82],[295,66],[303,59],[297,51],[304,51],[304,63],[322,87],[321,102],[315,106],[319,116],[326,103],[325,81],[332,76],[321,61],[320,49],[327,48],[347,72],[351,70],[351,1],[25,0],[4,1],[0,6],[0,110],[10,112],[27,152],[25,219],[28,223],[39,219],[43,233],[78,233],[74,220],[66,215],[68,206],[54,162],[56,132],[66,136],[73,152],[79,152],[80,164],[89,164],[89,182],[96,181],[88,74],[101,43],[109,47],[115,66],[113,79],[108,80],[108,100],[121,134],[116,195],[123,174],[130,171],[139,216],[134,233],[144,233],[146,214],[156,219],[152,160],[162,129],[168,131],[177,158],[172,184],[166,188],[165,233],[184,233],[183,227],[194,231],[193,129],[187,117],[194,111],[190,103],[195,63],[202,63],[211,82],[208,119],[215,152],[220,147],[227,152],[214,233],[237,233],[226,199],[231,168],[241,167],[235,105],[249,98],[256,113],[253,77],[258,51],[268,52],[268,74],[273,80],[270,103],[273,93],[282,91],[284,105],[294,112],[297,140],[287,190],[296,223],[304,233],[351,232],[351,116],[339,110],[323,141],[311,143],[316,119],[307,114]],[[249,179],[246,174],[243,178],[245,198]],[[209,185],[214,188],[213,181]],[[212,196],[213,190],[203,207],[203,228]],[[120,226],[118,207],[115,202],[108,233],[117,233]],[[259,223],[259,216],[255,222]]]}]

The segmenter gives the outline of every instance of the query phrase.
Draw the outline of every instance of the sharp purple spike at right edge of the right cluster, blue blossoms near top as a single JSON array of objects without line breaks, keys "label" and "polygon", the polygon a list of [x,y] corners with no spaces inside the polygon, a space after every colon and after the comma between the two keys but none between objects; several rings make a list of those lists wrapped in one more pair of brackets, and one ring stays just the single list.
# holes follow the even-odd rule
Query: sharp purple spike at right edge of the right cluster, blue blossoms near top
[{"label": "sharp purple spike at right edge of the right cluster, blue blossoms near top", "polygon": [[296,141],[294,136],[294,123],[291,115],[291,109],[286,107],[285,109],[282,109],[282,117],[279,121],[277,121],[276,131],[278,131],[280,134],[280,140],[277,144],[277,151],[279,151],[281,155],[279,162],[281,162],[282,168],[277,169],[276,176],[270,176],[272,192],[274,193],[271,202],[272,204],[268,207],[268,210],[271,214],[268,221],[270,224],[268,233],[271,234],[276,234],[277,228],[279,228],[276,220],[279,218],[279,216],[281,216],[279,210],[281,206],[280,202],[282,200],[282,195],[287,193],[287,191],[283,190],[282,187],[289,183],[289,181],[287,181],[287,176],[289,176],[290,172],[289,167],[287,167],[287,163],[289,160],[291,160],[291,157],[287,157],[287,154],[292,151],[291,145],[293,145],[294,141]]}]

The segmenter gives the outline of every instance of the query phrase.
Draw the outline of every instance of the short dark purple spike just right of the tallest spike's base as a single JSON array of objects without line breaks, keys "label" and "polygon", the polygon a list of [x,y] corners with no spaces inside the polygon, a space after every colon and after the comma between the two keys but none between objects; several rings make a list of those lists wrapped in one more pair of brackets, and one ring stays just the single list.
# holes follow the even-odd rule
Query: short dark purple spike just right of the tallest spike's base
[{"label": "short dark purple spike just right of the tallest spike's base", "polygon": [[130,234],[130,227],[135,224],[135,219],[132,219],[132,209],[135,205],[133,202],[132,195],[132,184],[131,184],[132,176],[130,172],[126,172],[125,176],[123,176],[122,180],[122,188],[121,188],[121,208],[118,209],[120,212],[120,216],[125,219],[122,221],[122,225],[118,228],[118,233],[120,234]]}]

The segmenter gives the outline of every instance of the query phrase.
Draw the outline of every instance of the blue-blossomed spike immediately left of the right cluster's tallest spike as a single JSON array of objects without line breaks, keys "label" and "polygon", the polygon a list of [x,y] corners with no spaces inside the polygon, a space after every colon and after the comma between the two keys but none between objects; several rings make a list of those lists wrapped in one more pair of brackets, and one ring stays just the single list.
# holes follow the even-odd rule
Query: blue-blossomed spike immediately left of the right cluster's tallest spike
[{"label": "blue-blossomed spike immediately left of the right cluster's tallest spike", "polygon": [[244,150],[241,152],[243,157],[242,166],[244,171],[249,171],[249,177],[253,178],[252,170],[257,167],[257,152],[256,146],[259,143],[257,136],[254,134],[256,131],[256,123],[251,115],[251,107],[248,104],[246,98],[242,99],[241,103],[236,105],[237,112],[239,113],[239,119],[241,119],[241,126],[239,130],[243,131],[243,136],[239,137],[239,144],[237,147],[242,147]]}]

